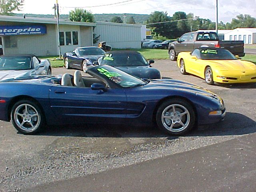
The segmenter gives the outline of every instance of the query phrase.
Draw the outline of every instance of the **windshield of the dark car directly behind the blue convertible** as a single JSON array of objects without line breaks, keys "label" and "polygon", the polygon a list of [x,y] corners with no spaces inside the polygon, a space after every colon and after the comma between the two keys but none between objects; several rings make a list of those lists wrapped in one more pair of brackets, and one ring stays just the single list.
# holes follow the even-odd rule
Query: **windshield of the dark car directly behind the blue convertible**
[{"label": "windshield of the dark car directly behind the blue convertible", "polygon": [[147,66],[147,60],[140,53],[110,53],[100,59],[100,65],[113,67]]}]

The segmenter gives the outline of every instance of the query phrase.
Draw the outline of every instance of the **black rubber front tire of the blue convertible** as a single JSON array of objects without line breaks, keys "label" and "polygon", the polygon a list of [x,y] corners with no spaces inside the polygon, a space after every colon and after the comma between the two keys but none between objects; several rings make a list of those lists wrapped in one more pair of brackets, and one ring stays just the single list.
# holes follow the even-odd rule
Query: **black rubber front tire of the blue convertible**
[{"label": "black rubber front tire of the blue convertible", "polygon": [[[173,111],[173,106],[175,111]],[[183,115],[180,116],[180,114]],[[162,118],[162,115],[168,118]],[[183,99],[166,100],[158,107],[156,112],[158,128],[171,135],[182,135],[190,131],[194,127],[195,119],[196,115],[193,107]],[[181,122],[184,126],[180,124]]]}]

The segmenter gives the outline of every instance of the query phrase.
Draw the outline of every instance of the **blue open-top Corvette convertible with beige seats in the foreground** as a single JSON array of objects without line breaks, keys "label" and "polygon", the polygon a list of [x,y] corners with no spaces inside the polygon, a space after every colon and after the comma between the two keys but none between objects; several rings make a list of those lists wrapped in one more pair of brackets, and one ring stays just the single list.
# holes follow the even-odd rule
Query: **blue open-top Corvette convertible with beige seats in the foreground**
[{"label": "blue open-top Corvette convertible with beige seats in the foreground", "polygon": [[45,124],[118,123],[152,126],[180,135],[225,115],[223,100],[179,80],[142,80],[112,66],[90,68],[92,77],[35,76],[0,82],[0,120],[24,134]]}]

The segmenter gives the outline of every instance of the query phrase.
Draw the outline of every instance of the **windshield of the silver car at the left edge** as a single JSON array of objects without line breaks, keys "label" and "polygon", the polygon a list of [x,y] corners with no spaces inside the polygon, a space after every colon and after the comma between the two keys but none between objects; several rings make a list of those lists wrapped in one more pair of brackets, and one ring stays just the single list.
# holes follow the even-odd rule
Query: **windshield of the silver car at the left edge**
[{"label": "windshield of the silver car at the left edge", "polygon": [[31,69],[31,58],[24,56],[0,57],[0,70]]}]

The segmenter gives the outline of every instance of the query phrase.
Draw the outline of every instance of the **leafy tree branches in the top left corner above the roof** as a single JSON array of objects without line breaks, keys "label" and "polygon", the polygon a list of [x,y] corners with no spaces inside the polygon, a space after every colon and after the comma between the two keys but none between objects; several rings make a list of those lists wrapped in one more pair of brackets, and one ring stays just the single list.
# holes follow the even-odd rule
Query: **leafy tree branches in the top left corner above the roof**
[{"label": "leafy tree branches in the top left corner above the roof", "polygon": [[24,0],[0,0],[0,15],[12,15],[13,11],[20,11]]}]

